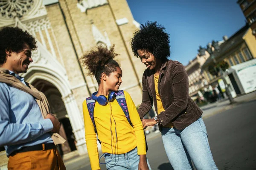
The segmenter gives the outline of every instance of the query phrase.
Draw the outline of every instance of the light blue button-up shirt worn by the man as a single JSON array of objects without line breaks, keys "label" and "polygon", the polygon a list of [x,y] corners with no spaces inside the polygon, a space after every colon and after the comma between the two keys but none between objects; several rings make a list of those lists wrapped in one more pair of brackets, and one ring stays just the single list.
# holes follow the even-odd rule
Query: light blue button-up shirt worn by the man
[{"label": "light blue button-up shirt worn by the man", "polygon": [[[9,71],[26,85],[24,78]],[[50,119],[44,119],[35,98],[0,82],[0,146],[6,155],[22,147],[53,143]]]}]

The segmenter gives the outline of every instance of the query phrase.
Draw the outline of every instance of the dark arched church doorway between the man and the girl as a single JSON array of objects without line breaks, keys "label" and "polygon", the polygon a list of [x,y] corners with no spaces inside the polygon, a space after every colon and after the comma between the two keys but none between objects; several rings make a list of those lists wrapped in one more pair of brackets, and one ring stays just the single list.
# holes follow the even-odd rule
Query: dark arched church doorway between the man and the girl
[{"label": "dark arched church doorway between the man and the girl", "polygon": [[32,85],[45,94],[50,105],[51,113],[53,113],[61,123],[59,134],[66,142],[58,145],[60,153],[63,155],[76,150],[75,135],[60,91],[58,91],[55,85],[43,79],[35,79]]}]

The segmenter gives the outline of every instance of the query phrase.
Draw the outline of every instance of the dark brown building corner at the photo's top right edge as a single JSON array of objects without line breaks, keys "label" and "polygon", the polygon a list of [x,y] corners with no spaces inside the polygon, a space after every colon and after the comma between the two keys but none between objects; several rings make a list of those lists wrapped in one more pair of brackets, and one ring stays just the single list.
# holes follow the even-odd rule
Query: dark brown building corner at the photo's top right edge
[{"label": "dark brown building corner at the photo's top right edge", "polygon": [[252,33],[256,38],[256,1],[255,0],[238,0],[241,10],[244,13],[244,17],[249,23]]}]

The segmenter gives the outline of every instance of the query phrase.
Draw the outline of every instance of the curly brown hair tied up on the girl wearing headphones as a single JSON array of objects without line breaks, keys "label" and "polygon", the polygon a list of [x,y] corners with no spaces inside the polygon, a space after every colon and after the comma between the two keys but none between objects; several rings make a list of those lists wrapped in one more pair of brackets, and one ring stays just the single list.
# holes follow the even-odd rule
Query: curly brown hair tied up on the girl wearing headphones
[{"label": "curly brown hair tied up on the girl wearing headphones", "polygon": [[80,61],[89,70],[88,75],[95,76],[99,85],[102,73],[109,76],[116,71],[116,67],[120,67],[120,64],[114,60],[118,55],[114,52],[114,45],[110,49],[97,46],[96,49],[85,53]]}]

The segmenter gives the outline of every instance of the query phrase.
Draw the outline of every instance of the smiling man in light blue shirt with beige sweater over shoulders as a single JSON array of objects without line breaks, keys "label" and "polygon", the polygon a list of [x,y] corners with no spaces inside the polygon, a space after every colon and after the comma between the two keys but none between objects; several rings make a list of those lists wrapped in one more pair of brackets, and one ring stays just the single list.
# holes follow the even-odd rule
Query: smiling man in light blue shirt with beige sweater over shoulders
[{"label": "smiling man in light blue shirt with beige sweater over shoulders", "polygon": [[43,93],[20,77],[33,62],[36,41],[27,31],[0,30],[0,146],[9,170],[65,170],[55,144],[60,122],[50,113]]}]

